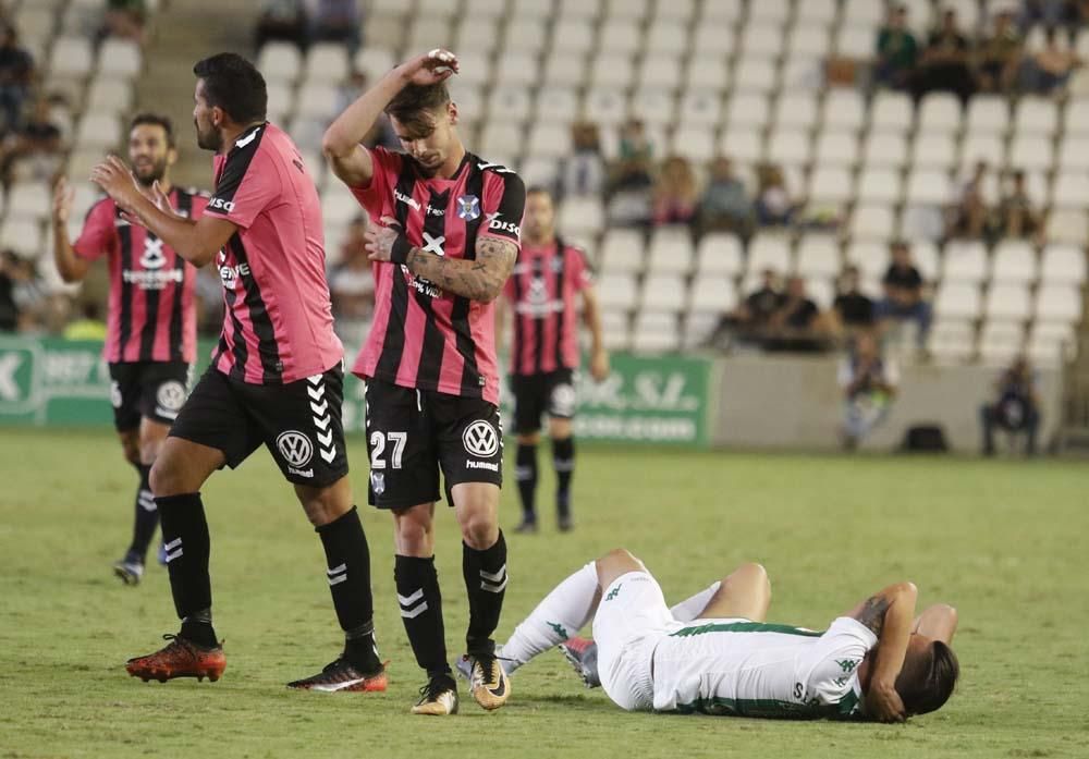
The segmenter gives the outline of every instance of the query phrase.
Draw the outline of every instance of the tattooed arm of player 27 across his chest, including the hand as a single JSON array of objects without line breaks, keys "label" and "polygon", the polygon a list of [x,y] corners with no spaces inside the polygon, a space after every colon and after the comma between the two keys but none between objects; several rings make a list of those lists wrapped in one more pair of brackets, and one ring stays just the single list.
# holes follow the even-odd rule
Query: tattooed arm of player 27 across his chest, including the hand
[{"label": "tattooed arm of player 27 across his chest, including the hand", "polygon": [[[366,249],[372,261],[389,261],[393,243],[400,236],[396,220],[382,217],[386,227],[371,224],[367,230]],[[405,254],[405,266],[417,277],[442,287],[448,293],[470,301],[490,303],[503,292],[503,283],[514,269],[518,247],[500,237],[477,237],[476,259],[448,258],[418,247]]]}]

